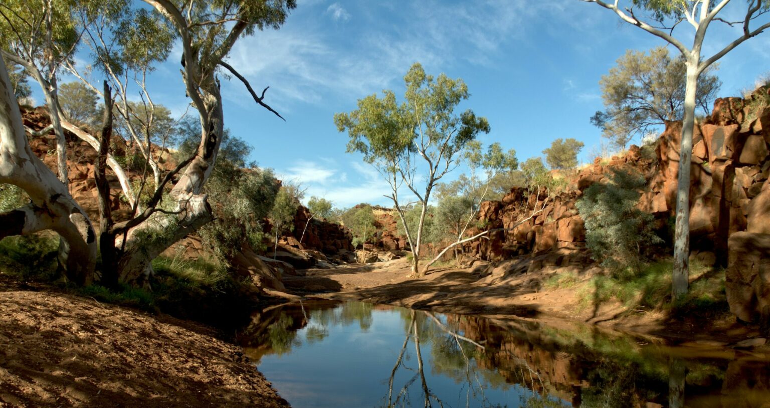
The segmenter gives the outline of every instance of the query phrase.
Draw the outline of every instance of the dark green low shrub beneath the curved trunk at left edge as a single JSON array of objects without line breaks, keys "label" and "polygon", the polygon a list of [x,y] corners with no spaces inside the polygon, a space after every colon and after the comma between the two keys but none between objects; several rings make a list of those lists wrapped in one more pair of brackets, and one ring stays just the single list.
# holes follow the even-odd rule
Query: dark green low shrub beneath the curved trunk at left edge
[{"label": "dark green low shrub beneath the curved trunk at left edge", "polygon": [[59,239],[40,232],[28,236],[8,236],[0,240],[0,269],[22,279],[52,280],[56,271]]}]

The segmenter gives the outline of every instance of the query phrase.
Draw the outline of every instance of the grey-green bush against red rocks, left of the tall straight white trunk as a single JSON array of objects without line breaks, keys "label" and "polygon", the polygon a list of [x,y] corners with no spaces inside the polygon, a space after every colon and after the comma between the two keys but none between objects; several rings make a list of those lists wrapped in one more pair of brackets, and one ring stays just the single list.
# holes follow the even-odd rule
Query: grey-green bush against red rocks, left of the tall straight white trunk
[{"label": "grey-green bush against red rocks, left of the tall straight white trunk", "polygon": [[644,177],[613,169],[608,183],[595,183],[577,202],[592,257],[615,273],[638,272],[648,249],[662,242],[651,214],[637,208],[645,185]]}]

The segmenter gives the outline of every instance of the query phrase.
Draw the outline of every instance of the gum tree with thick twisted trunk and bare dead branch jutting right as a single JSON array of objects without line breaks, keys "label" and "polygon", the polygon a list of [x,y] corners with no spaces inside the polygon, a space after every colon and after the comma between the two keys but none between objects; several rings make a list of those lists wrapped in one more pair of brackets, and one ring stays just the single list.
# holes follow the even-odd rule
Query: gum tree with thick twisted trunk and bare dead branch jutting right
[{"label": "gum tree with thick twisted trunk and bare dead branch jutting right", "polygon": [[280,28],[296,7],[294,0],[145,2],[166,19],[182,46],[182,81],[198,111],[200,139],[195,156],[167,195],[172,209],[146,209],[126,226],[123,238],[116,240],[122,252],[118,269],[119,280],[123,282],[149,276],[152,259],[213,218],[203,186],[211,176],[224,134],[219,69],[236,76],[257,104],[278,115],[263,102],[266,89],[256,95],[243,75],[225,59],[238,38],[264,28]]}]

